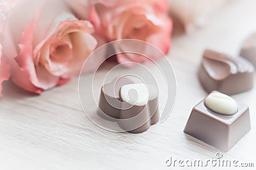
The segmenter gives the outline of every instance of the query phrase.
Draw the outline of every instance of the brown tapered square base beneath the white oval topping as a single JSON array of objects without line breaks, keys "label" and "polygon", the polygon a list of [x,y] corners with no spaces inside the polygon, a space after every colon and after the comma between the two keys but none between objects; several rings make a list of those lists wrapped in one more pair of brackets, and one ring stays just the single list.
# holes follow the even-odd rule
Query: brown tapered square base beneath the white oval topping
[{"label": "brown tapered square base beneath the white oval topping", "polygon": [[204,101],[196,104],[191,111],[184,132],[227,152],[250,131],[249,108],[236,101],[238,111],[234,115],[225,116],[209,110]]}]

